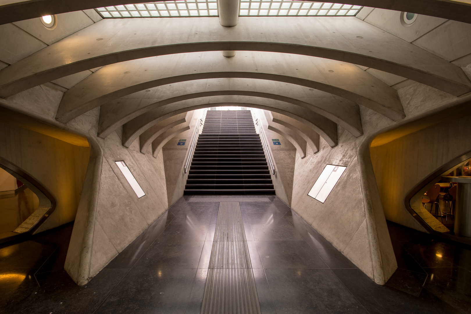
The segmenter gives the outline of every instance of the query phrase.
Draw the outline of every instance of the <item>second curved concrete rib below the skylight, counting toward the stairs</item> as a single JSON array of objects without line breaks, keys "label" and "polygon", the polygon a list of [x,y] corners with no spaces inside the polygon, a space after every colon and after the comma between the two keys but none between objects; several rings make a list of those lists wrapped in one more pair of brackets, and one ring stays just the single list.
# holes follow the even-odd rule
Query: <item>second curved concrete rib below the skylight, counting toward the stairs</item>
[{"label": "second curved concrete rib below the skylight, counting toward the stairs", "polygon": [[[296,84],[349,99],[395,121],[405,117],[397,91],[354,64],[310,56],[252,51],[240,51],[231,60],[224,60],[218,51],[209,51],[145,58],[103,67],[65,92],[56,118],[67,122],[97,106],[141,90],[174,86],[184,81],[219,78],[264,80],[267,81],[265,84],[258,84],[262,85],[260,88],[266,89],[273,84],[269,81]],[[227,89],[233,89],[235,83],[230,80],[226,84]],[[252,85],[250,82],[247,84]],[[215,83],[213,81],[208,85],[214,87]],[[182,90],[208,90],[207,86],[194,83],[179,86]],[[281,87],[280,84],[277,86]],[[311,94],[307,91],[304,93]],[[343,108],[334,115],[340,116],[342,111]]]}]

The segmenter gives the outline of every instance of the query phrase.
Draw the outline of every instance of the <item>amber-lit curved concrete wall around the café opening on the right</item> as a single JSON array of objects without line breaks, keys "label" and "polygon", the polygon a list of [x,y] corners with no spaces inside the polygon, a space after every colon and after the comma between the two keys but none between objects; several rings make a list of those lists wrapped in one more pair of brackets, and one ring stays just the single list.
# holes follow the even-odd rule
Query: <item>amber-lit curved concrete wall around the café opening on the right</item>
[{"label": "amber-lit curved concrete wall around the caf\u00e9 opening on the right", "polygon": [[425,232],[404,207],[404,197],[435,170],[470,151],[470,134],[467,116],[371,147],[386,219]]}]

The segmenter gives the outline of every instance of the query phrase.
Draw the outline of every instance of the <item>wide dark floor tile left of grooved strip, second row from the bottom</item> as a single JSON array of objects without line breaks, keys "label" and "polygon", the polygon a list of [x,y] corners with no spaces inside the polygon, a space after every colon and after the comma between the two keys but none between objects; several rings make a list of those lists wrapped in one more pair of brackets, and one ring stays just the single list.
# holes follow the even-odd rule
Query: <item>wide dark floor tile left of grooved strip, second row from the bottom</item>
[{"label": "wide dark floor tile left of grooved strip, second row from the bottom", "polygon": [[156,241],[133,268],[196,268],[204,241]]}]

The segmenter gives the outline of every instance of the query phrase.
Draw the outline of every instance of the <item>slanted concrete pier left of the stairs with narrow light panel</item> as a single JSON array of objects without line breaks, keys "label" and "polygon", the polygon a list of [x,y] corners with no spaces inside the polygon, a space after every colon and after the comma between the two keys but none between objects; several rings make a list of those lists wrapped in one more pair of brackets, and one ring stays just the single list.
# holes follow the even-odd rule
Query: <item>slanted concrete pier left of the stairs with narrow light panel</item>
[{"label": "slanted concrete pier left of the stairs with narrow light panel", "polygon": [[[87,173],[65,270],[82,285],[134,241],[168,208],[162,154],[154,158],[139,152],[138,142],[129,148],[113,132],[97,139]],[[138,198],[115,161],[124,161],[142,187]]]}]

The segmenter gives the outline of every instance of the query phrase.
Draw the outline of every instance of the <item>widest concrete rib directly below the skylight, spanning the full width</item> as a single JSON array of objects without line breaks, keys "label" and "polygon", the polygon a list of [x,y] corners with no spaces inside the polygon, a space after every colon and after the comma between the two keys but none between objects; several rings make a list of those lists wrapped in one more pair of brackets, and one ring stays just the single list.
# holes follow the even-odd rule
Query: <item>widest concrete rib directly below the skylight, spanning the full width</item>
[{"label": "widest concrete rib directly below the skylight, spanning the full width", "polygon": [[103,19],[3,69],[0,96],[116,62],[214,50],[324,57],[390,72],[455,96],[471,91],[457,65],[356,17],[249,16],[223,28],[211,17]]}]

